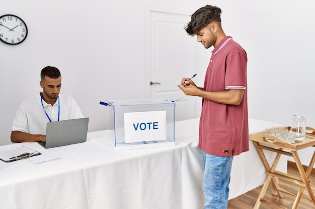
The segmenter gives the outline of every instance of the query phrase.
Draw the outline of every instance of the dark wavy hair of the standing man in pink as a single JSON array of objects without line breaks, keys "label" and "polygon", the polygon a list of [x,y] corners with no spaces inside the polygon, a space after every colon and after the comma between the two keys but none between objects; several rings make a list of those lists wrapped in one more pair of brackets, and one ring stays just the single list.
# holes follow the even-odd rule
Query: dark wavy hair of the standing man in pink
[{"label": "dark wavy hair of the standing man in pink", "polygon": [[213,21],[221,23],[221,13],[220,8],[212,5],[202,7],[191,16],[191,21],[184,29],[190,36],[194,36]]}]

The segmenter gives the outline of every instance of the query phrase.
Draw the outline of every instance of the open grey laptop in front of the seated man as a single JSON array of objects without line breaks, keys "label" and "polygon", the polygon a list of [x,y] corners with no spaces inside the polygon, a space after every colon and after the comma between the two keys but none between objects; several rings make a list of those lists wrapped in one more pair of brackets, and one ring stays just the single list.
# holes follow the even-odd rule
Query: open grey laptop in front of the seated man
[{"label": "open grey laptop in front of the seated man", "polygon": [[78,118],[48,122],[46,142],[38,142],[43,147],[52,148],[87,141],[89,118]]}]

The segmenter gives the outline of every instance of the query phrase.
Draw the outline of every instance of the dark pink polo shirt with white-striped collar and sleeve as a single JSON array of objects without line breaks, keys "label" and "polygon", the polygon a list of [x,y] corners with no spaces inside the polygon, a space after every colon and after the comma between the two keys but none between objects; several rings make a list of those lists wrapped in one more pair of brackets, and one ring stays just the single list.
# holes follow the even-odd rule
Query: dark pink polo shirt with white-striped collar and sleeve
[{"label": "dark pink polo shirt with white-striped collar and sleeve", "polygon": [[247,108],[247,54],[231,37],[212,51],[204,81],[205,91],[244,89],[240,105],[202,100],[199,148],[218,156],[239,155],[249,150]]}]

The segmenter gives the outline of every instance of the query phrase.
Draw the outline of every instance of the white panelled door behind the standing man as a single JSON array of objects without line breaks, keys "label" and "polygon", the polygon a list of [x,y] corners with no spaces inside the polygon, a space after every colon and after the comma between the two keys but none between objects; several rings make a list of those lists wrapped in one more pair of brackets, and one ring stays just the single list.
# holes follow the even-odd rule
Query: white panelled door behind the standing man
[{"label": "white panelled door behind the standing man", "polygon": [[[186,96],[178,87],[183,77],[197,73],[197,41],[184,30],[189,15],[149,11],[147,67],[150,98],[176,101],[175,120],[199,117],[196,97]],[[198,46],[200,47],[200,46]],[[198,114],[198,115],[196,115]]]}]

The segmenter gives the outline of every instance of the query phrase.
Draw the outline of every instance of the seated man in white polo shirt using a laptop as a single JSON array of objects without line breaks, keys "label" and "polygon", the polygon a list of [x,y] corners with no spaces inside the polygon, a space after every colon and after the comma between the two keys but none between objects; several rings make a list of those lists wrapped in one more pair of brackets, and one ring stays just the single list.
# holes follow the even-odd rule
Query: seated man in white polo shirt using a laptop
[{"label": "seated man in white polo shirt using a laptop", "polygon": [[45,142],[47,122],[83,118],[75,100],[59,94],[61,75],[57,68],[43,68],[40,77],[43,92],[20,104],[12,125],[12,142]]}]

